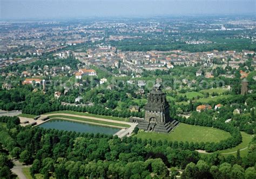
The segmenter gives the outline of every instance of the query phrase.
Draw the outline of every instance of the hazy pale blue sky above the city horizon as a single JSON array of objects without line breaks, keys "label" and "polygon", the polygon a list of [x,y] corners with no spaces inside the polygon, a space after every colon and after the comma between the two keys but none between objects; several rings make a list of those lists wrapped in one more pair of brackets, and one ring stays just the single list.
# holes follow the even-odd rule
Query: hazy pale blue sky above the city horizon
[{"label": "hazy pale blue sky above the city horizon", "polygon": [[256,15],[256,0],[0,0],[0,19]]}]

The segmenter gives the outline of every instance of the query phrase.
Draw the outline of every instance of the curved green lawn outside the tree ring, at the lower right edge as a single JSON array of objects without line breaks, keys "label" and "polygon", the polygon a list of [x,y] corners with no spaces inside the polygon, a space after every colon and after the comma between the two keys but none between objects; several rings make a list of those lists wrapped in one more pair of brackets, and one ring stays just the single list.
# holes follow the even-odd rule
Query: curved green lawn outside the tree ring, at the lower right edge
[{"label": "curved green lawn outside the tree ring, at the lower right edge", "polygon": [[[253,138],[253,135],[247,134],[245,132],[241,132],[241,135],[242,135],[242,142],[241,142],[241,144],[239,144],[238,146],[235,146],[233,148],[228,148],[228,149],[225,149],[225,150],[222,150],[222,151],[219,151],[219,152],[220,153],[234,152],[234,153],[232,153],[232,155],[236,155],[238,149],[241,150],[242,148],[248,147],[249,143],[251,142],[251,140]],[[240,155],[241,156],[246,156],[247,153],[248,153],[248,148],[240,151]],[[224,154],[224,155],[228,155],[228,154]]]}]

